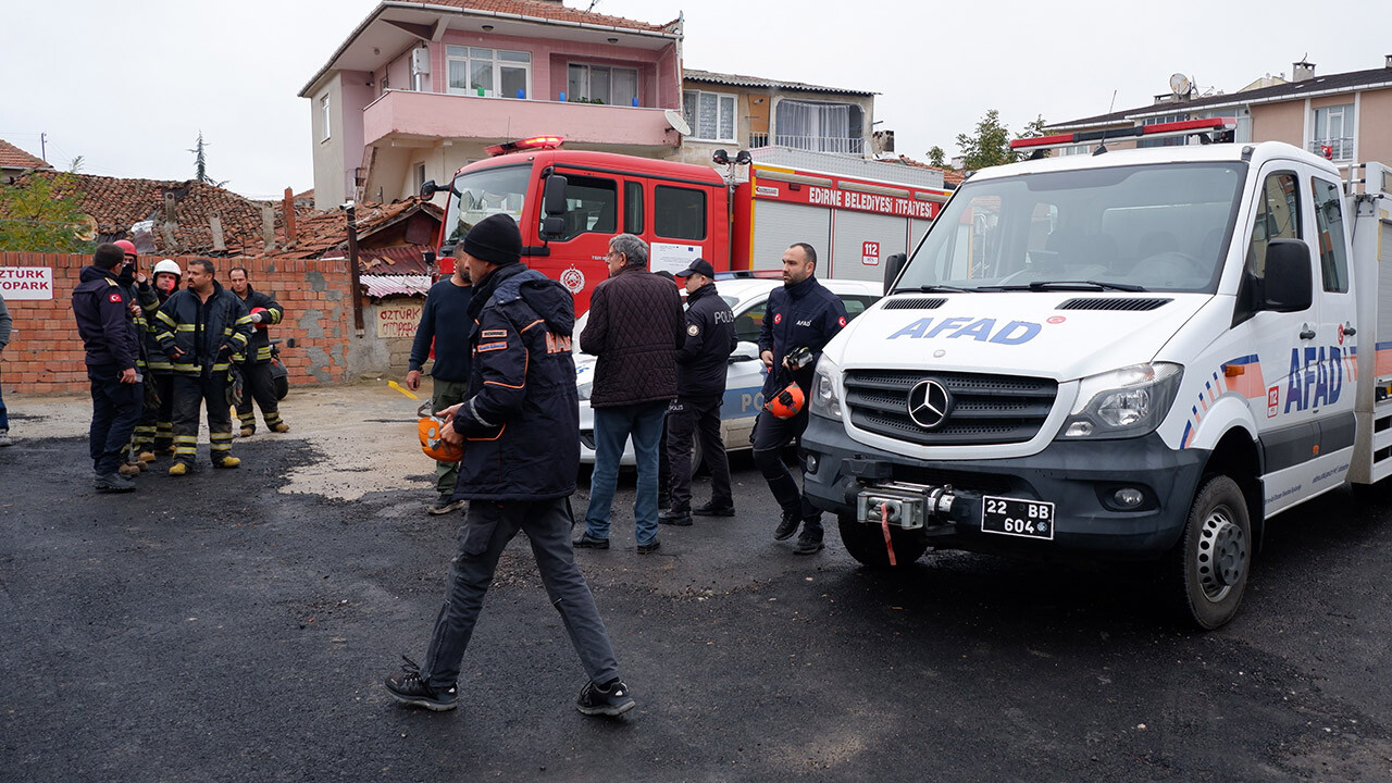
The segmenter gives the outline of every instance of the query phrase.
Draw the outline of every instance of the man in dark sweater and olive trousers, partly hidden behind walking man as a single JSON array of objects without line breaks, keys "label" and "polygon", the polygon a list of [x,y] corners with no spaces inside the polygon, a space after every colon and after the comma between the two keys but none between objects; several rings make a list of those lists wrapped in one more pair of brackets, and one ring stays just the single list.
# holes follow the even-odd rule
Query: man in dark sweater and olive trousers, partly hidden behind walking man
[{"label": "man in dark sweater and olive trousers, partly hidden behind walking man", "polygon": [[[436,364],[430,368],[433,379],[430,389],[430,410],[440,411],[465,400],[469,392],[469,305],[473,302],[473,281],[461,254],[464,245],[455,245],[454,274],[430,286],[426,307],[420,311],[420,326],[411,343],[411,364],[406,365],[406,389],[420,389],[420,368],[430,358],[434,346]],[[459,476],[458,463],[436,463],[436,492],[427,514],[448,514],[464,506],[455,500],[454,485]]]}]

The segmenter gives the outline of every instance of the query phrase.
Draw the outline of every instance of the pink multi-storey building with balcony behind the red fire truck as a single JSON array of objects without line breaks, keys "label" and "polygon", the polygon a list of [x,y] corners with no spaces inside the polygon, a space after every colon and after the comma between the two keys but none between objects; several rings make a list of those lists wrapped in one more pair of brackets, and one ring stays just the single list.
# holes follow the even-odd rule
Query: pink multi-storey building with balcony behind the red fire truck
[{"label": "pink multi-storey building with balcony behind the red fire truck", "polygon": [[560,0],[384,1],[299,92],[315,205],[409,196],[490,145],[533,135],[668,157],[682,141],[664,116],[682,109],[681,47],[681,20]]}]

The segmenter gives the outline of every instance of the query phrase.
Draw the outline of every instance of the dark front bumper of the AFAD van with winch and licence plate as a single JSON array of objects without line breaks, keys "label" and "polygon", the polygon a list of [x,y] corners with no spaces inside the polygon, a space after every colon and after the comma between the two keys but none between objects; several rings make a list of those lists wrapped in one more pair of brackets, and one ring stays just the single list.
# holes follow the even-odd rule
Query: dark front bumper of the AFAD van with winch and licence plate
[{"label": "dark front bumper of the AFAD van with winch and licence plate", "polygon": [[1183,529],[1208,451],[1158,435],[1054,442],[1029,457],[915,460],[852,440],[812,417],[803,489],[818,507],[922,535],[933,546],[1004,555],[1150,557]]}]

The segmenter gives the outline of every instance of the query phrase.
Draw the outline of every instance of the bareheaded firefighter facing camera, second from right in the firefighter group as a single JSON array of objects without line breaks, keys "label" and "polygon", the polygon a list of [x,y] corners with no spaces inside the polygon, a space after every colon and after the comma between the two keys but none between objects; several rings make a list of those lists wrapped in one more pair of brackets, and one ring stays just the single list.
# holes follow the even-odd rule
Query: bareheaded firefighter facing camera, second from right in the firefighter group
[{"label": "bareheaded firefighter facing camera, second from right in the firefighter group", "polygon": [[251,341],[252,319],[237,294],[213,279],[213,262],[188,265],[188,288],[164,302],[156,318],[160,346],[174,365],[174,464],[170,475],[193,468],[198,447],[198,410],[207,404],[209,454],[214,468],[235,468],[232,415],[227,400],[227,373],[232,354]]}]

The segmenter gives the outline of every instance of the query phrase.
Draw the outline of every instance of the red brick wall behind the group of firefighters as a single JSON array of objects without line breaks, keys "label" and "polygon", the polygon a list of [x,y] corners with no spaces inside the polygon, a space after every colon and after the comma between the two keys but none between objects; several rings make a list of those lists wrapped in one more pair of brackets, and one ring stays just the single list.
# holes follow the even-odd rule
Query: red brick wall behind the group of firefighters
[{"label": "red brick wall behind the group of firefighters", "polygon": [[[195,256],[175,256],[185,266]],[[149,273],[153,256],[141,256]],[[290,369],[291,385],[345,383],[347,346],[354,336],[352,290],[348,262],[276,258],[214,258],[217,280],[227,283],[227,270],[245,266],[252,287],[276,297],[285,308],[285,320],[270,327],[273,339],[295,339],[294,348],[281,346],[281,359]],[[53,300],[7,300],[14,318],[14,334],[0,364],[0,387],[6,393],[63,393],[89,389],[82,340],[72,318],[72,288],[90,263],[88,255],[0,252],[0,268],[47,266],[53,269]]]}]

